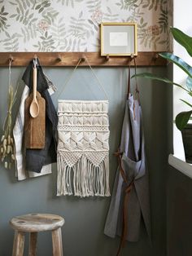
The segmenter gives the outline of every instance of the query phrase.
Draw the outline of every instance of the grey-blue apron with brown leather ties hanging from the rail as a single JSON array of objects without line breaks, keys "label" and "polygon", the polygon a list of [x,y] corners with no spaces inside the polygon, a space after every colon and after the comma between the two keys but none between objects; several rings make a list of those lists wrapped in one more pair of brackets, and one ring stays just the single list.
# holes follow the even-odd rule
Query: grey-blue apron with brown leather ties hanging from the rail
[{"label": "grey-blue apron with brown leather ties hanging from the rail", "polygon": [[[124,240],[127,241],[138,241],[143,218],[146,232],[151,239],[142,109],[138,100],[133,99],[131,94],[125,107],[120,152],[123,154],[116,172],[104,233],[111,237],[125,236]],[[124,170],[124,174],[121,174],[120,170]],[[126,200],[127,203],[124,204]],[[127,230],[123,227],[123,214]]]}]

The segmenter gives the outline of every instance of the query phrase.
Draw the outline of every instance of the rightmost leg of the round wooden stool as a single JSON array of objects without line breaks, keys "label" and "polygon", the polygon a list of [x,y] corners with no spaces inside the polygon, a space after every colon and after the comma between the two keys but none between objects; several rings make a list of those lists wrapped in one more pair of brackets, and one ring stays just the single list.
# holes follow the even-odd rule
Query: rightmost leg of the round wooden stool
[{"label": "rightmost leg of the round wooden stool", "polygon": [[53,256],[63,256],[61,228],[52,231]]}]

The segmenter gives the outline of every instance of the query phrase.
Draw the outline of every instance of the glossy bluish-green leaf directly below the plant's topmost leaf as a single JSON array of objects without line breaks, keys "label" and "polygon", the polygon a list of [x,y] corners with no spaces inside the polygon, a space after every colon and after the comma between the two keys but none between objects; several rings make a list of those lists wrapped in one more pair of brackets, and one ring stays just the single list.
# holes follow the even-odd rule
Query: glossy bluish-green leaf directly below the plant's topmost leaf
[{"label": "glossy bluish-green leaf directly below the plant's topmost leaf", "polygon": [[192,77],[192,67],[185,63],[184,60],[182,60],[180,57],[177,57],[176,55],[173,55],[169,52],[163,52],[159,54],[161,57],[163,57],[166,60],[171,61],[174,64],[177,64],[178,67],[180,67],[185,73],[188,74],[188,76]]}]

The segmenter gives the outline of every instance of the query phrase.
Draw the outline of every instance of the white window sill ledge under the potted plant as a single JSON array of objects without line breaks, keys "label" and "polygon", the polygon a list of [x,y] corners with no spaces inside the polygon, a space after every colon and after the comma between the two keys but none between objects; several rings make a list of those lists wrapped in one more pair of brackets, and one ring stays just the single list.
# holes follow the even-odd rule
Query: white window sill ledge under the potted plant
[{"label": "white window sill ledge under the potted plant", "polygon": [[181,160],[178,157],[175,157],[172,154],[170,154],[168,156],[168,163],[170,166],[181,171],[182,174],[185,174],[190,179],[192,179],[192,165],[191,164],[186,163],[185,161]]}]

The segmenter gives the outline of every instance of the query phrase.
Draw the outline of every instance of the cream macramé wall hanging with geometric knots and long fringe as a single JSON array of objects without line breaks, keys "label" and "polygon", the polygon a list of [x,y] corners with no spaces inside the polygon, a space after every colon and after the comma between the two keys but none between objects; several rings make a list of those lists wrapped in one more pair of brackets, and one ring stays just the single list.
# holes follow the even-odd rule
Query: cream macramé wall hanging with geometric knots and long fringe
[{"label": "cream macram\u00e9 wall hanging with geometric knots and long fringe", "polygon": [[110,196],[107,113],[104,100],[59,100],[58,196]]}]

